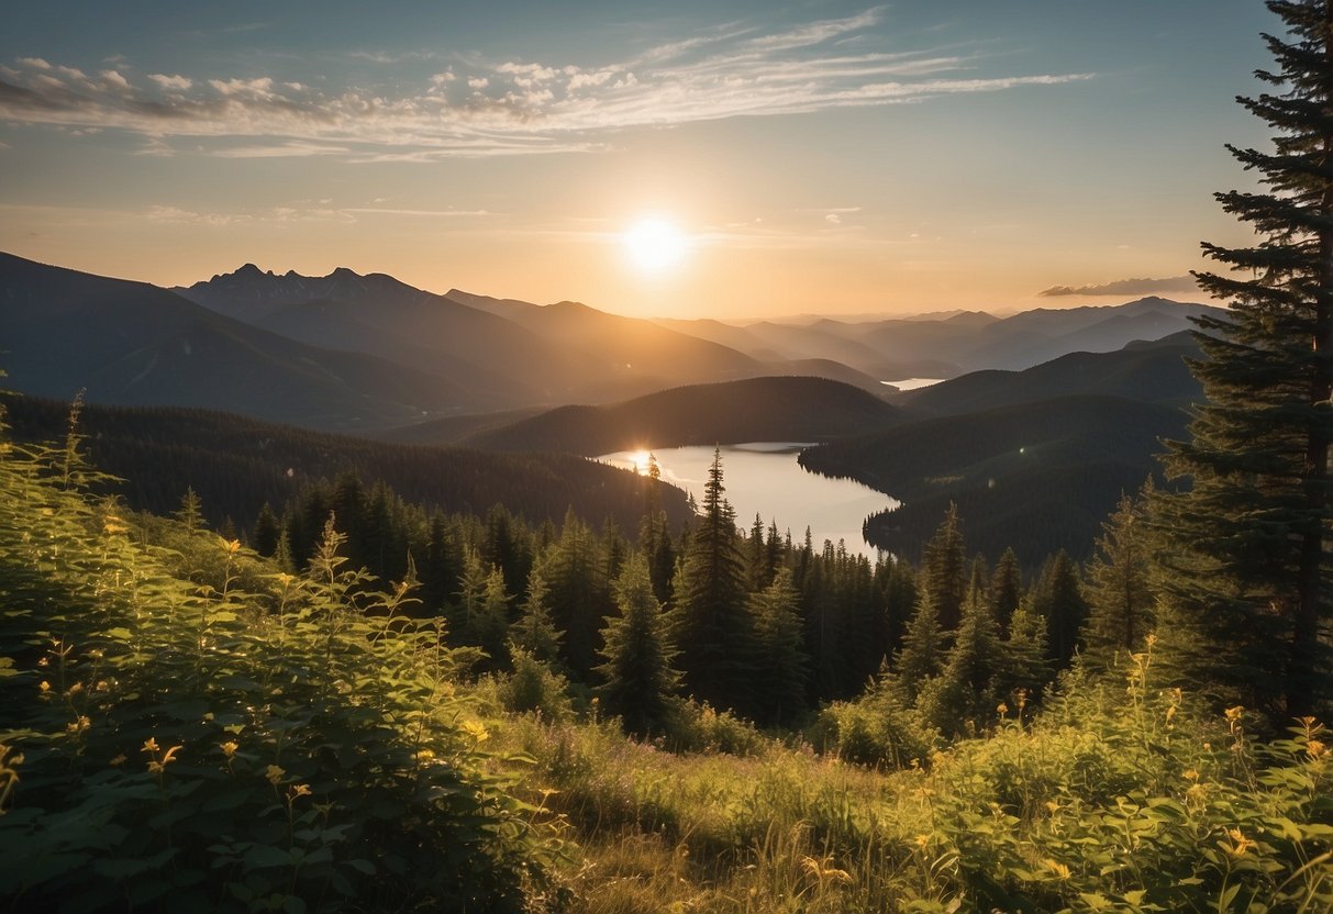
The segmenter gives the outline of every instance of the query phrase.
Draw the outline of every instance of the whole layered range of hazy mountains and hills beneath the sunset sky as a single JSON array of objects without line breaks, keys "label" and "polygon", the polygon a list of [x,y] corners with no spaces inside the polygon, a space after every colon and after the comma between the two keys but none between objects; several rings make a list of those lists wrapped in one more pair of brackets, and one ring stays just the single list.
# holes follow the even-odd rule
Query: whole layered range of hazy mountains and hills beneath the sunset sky
[{"label": "whole layered range of hazy mountains and hills beneath the sunset sky", "polygon": [[[974,513],[978,548],[1012,544],[1025,561],[1052,545],[1086,554],[1118,493],[1152,472],[1160,440],[1182,434],[1182,406],[1200,397],[1185,361],[1198,349],[1185,330],[1205,313],[1225,312],[1150,297],[1012,317],[732,325],[436,294],[344,268],[311,277],[247,264],[163,289],[0,254],[5,385],[57,401],[84,390],[96,405],[235,414],[209,420],[221,422],[215,432],[184,430],[192,426],[180,417],[152,432],[191,446],[261,434],[239,430],[249,420],[584,456],[824,441],[802,457],[808,468],[905,501],[870,518],[872,542],[910,550],[953,500]],[[909,377],[948,380],[886,384]],[[112,416],[99,418],[104,441],[131,421]],[[307,461],[369,446],[292,441]],[[209,472],[240,472],[215,464]],[[531,466],[492,465],[499,476],[485,492],[503,492],[507,474],[531,488],[517,482]],[[541,512],[560,509],[543,502]]]}]

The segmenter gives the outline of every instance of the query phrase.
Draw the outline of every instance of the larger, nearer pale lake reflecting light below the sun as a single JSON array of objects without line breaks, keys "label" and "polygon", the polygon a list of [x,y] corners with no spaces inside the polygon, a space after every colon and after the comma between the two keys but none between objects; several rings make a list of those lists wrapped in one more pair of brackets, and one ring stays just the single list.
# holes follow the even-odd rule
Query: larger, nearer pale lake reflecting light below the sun
[{"label": "larger, nearer pale lake reflecting light below the sun", "polygon": [[[758,513],[765,529],[769,521],[777,521],[778,533],[785,536],[790,530],[796,545],[805,540],[809,526],[816,549],[825,540],[834,544],[844,540],[848,552],[873,561],[876,549],[861,538],[861,522],[869,514],[897,508],[898,502],[853,480],[832,480],[801,469],[796,456],[806,446],[793,441],[757,441],[721,449],[724,497],[736,509],[736,525],[748,530]],[[712,446],[663,448],[653,450],[653,457],[664,482],[685,489],[704,504],[704,484],[713,465]],[[597,460],[641,470],[647,454],[621,450]]]}]

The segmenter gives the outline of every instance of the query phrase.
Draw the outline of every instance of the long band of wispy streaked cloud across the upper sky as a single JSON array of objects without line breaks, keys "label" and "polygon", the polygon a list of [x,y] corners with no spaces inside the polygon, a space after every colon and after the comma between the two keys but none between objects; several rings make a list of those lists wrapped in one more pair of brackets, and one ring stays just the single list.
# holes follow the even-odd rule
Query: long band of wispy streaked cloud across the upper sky
[{"label": "long band of wispy streaked cloud across the upper sky", "polygon": [[[599,67],[461,55],[415,87],[328,85],[253,73],[149,73],[119,65],[88,77],[41,57],[0,68],[0,120],[137,133],[153,155],[451,156],[595,152],[633,128],[1005,92],[1089,73],[977,76],[978,60],[933,49],[865,52],[884,12],[761,29],[733,23]],[[856,47],[858,52],[848,49]],[[433,52],[353,52],[397,64]],[[173,143],[180,141],[180,143]],[[188,143],[187,143],[188,141]]]}]

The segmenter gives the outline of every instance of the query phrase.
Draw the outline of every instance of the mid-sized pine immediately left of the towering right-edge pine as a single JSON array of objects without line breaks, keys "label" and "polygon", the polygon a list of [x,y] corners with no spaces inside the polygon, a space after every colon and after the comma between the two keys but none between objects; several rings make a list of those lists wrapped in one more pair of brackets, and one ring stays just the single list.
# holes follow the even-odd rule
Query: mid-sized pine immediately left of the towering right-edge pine
[{"label": "mid-sized pine immediately left of the towering right-edge pine", "polygon": [[[1152,497],[1152,484],[1145,498]],[[1084,590],[1088,622],[1084,628],[1084,664],[1093,672],[1114,666],[1116,656],[1142,649],[1153,628],[1150,542],[1145,522],[1146,501],[1121,496],[1116,512],[1104,521],[1097,554]]]}]

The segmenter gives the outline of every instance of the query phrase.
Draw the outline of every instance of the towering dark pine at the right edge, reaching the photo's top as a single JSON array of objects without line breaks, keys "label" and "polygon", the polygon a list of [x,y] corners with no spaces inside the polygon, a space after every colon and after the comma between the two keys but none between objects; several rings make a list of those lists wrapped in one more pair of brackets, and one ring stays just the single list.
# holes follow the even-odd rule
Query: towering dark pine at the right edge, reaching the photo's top
[{"label": "towering dark pine at the right edge, reaching the photo's top", "polygon": [[1273,89],[1240,103],[1273,148],[1228,148],[1269,192],[1217,195],[1261,240],[1204,244],[1238,276],[1197,274],[1230,310],[1198,321],[1208,402],[1170,444],[1169,473],[1193,486],[1160,500],[1161,582],[1164,629],[1202,636],[1181,673],[1285,718],[1333,695],[1333,3],[1268,8],[1286,25],[1264,36],[1277,67],[1256,73]]}]

